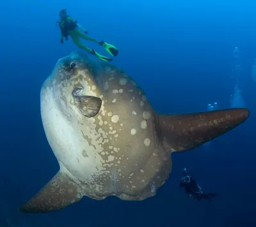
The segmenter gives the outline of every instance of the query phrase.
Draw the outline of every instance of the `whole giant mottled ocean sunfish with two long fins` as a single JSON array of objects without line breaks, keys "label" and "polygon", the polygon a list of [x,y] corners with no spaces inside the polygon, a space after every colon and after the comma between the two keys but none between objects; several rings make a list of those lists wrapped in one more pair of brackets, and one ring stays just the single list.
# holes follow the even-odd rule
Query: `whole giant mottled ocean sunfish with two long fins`
[{"label": "whole giant mottled ocean sunfish with two long fins", "polygon": [[21,212],[63,209],[83,196],[145,200],[168,179],[172,152],[223,135],[249,111],[159,114],[124,71],[72,52],[42,85],[41,115],[60,171]]}]

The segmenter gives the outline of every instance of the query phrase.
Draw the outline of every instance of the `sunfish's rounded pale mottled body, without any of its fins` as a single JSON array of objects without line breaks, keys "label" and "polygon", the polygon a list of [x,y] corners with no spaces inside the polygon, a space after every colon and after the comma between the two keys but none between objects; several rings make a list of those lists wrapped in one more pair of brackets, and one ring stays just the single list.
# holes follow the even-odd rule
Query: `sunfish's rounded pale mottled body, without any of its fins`
[{"label": "sunfish's rounded pale mottled body, without any of its fins", "polygon": [[[131,77],[110,64],[93,66],[88,57],[71,54],[58,61],[42,87],[42,119],[52,150],[86,196],[153,196],[150,184],[161,186],[171,168],[170,152],[156,135],[155,112]],[[77,108],[76,87],[102,100],[95,117]]]}]

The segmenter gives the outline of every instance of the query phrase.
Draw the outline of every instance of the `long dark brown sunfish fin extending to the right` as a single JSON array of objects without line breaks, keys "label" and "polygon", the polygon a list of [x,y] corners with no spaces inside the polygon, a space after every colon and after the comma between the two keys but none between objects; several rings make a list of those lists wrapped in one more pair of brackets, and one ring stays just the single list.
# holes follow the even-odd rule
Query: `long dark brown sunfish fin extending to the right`
[{"label": "long dark brown sunfish fin extending to the right", "polygon": [[163,143],[173,152],[198,147],[227,133],[248,117],[248,109],[233,108],[195,114],[159,115],[159,123]]}]

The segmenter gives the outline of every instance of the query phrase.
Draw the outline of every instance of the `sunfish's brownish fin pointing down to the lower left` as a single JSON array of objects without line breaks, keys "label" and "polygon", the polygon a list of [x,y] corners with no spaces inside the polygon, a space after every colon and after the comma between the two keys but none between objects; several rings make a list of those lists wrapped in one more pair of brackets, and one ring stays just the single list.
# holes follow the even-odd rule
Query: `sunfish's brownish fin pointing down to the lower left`
[{"label": "sunfish's brownish fin pointing down to the lower left", "polygon": [[60,210],[81,200],[83,193],[74,180],[61,170],[31,200],[20,207],[24,213],[44,213]]}]

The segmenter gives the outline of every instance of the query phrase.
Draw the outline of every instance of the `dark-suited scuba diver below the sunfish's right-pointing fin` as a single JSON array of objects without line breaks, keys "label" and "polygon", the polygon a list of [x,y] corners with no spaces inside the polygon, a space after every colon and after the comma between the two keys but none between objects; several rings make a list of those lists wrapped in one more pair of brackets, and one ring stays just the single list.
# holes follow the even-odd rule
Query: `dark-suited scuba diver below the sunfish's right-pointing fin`
[{"label": "dark-suited scuba diver below the sunfish's right-pointing fin", "polygon": [[182,172],[180,187],[184,187],[186,193],[188,193],[189,196],[193,196],[198,201],[202,200],[203,198],[211,201],[211,198],[217,195],[216,193],[204,193],[202,188],[196,183],[196,180],[189,175],[186,168],[184,168]]}]

